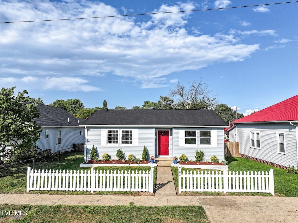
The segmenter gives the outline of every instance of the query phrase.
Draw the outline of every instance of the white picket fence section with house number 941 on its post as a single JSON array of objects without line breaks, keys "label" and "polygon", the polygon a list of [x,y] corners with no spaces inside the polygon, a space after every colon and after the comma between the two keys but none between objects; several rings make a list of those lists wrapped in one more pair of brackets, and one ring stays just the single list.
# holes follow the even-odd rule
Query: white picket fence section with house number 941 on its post
[{"label": "white picket fence section with house number 941 on its post", "polygon": [[[179,171],[179,193],[181,191],[212,192],[261,192],[274,195],[273,169],[264,171]],[[182,179],[181,179],[182,178]]]}]

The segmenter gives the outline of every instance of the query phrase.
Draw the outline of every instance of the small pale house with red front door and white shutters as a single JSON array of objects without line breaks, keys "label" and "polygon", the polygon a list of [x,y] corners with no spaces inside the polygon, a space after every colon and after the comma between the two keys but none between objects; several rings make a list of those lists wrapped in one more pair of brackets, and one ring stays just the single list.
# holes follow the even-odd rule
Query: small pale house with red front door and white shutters
[{"label": "small pale house with red front door and white shutters", "polygon": [[229,127],[213,110],[183,109],[100,109],[80,126],[85,127],[85,161],[94,145],[97,156],[108,153],[116,159],[119,148],[125,157],[148,158],[185,154],[195,160],[204,151],[205,160],[216,155],[224,160],[224,128]]}]

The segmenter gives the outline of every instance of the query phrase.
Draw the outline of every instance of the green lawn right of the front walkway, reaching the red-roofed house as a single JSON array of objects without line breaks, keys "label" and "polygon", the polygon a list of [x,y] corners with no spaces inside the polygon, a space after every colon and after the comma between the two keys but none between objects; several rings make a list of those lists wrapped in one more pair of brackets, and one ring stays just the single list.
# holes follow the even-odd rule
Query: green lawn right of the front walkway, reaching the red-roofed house
[{"label": "green lawn right of the front walkway, reaching the red-roofed house", "polygon": [[[274,193],[276,196],[298,197],[298,174],[288,174],[285,169],[276,168],[264,163],[240,157],[226,157],[229,171],[264,171],[269,172],[273,169],[274,173]],[[197,171],[200,169],[183,168],[181,171]],[[178,193],[178,167],[172,167],[174,183]],[[240,196],[271,196],[269,193],[239,193],[239,192],[182,192],[179,195],[240,195]]]}]

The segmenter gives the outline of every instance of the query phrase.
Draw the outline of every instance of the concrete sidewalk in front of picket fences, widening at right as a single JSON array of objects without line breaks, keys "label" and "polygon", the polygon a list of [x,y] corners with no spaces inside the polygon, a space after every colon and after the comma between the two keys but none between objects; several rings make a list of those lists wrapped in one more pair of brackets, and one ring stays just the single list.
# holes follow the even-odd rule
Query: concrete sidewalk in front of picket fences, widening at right
[{"label": "concrete sidewalk in front of picket fences, widening at right", "polygon": [[201,205],[211,223],[298,222],[298,197],[0,194],[0,204]]}]

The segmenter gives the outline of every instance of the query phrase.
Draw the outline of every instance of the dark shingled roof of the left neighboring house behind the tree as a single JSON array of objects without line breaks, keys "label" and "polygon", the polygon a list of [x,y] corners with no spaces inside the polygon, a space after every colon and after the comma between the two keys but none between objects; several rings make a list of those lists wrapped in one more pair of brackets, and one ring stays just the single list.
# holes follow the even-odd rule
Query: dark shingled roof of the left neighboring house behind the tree
[{"label": "dark shingled roof of the left neighboring house behind the tree", "polygon": [[[63,108],[41,104],[37,104],[37,107],[41,116],[33,120],[39,126],[79,126],[84,121],[82,118],[75,118]],[[67,122],[68,118],[69,122]]]}]

